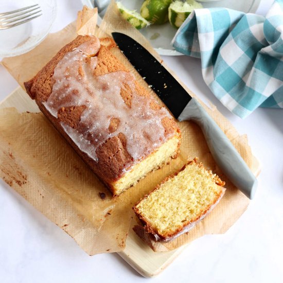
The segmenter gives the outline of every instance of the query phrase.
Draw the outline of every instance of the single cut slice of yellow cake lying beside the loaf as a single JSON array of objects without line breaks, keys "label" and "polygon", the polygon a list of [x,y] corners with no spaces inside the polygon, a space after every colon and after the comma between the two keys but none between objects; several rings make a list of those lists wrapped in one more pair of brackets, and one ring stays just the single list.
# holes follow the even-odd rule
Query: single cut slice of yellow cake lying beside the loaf
[{"label": "single cut slice of yellow cake lying beside the loaf", "polygon": [[[224,185],[194,158],[141,199],[133,210],[146,233],[155,240],[170,241],[188,232],[216,206],[225,192]],[[142,234],[138,229],[134,231]]]}]

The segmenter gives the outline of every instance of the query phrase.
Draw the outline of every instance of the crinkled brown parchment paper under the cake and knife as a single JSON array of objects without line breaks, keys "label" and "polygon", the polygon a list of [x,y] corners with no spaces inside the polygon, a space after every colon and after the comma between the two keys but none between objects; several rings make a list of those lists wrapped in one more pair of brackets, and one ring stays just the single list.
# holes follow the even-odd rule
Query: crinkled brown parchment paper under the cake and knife
[{"label": "crinkled brown parchment paper under the cake and knife", "polygon": [[[104,37],[114,30],[129,34],[161,61],[147,40],[121,18],[112,2],[95,33]],[[39,46],[27,54],[5,58],[2,63],[23,86],[61,47],[75,37],[75,23],[72,23],[57,33],[49,34]],[[122,53],[117,48],[113,48],[113,52],[132,70],[140,83],[145,85],[145,81]],[[195,96],[188,89],[187,91]],[[240,136],[215,107],[209,109],[204,104],[203,106],[251,167],[252,154],[246,135]],[[179,126],[183,136],[179,157],[170,165],[149,173],[135,187],[113,199],[43,114],[2,109],[0,176],[73,237],[86,253],[94,255],[123,250],[134,216],[131,207],[166,176],[180,169],[188,159],[198,156],[207,169],[213,170],[226,182],[227,190],[219,205],[188,234],[169,243],[150,242],[155,251],[172,250],[205,234],[225,233],[249,204],[249,199],[231,184],[214,162],[200,128],[189,121],[181,122]],[[104,199],[101,198],[103,193]]]}]

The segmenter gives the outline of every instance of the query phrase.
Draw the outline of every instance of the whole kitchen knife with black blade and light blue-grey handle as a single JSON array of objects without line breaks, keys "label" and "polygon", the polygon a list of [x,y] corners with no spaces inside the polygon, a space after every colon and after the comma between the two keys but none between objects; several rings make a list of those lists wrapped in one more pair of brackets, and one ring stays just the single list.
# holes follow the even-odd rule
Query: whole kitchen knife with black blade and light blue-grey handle
[{"label": "whole kitchen knife with black blade and light blue-grey handle", "polygon": [[134,39],[120,32],[112,32],[112,36],[119,49],[141,77],[151,85],[174,117],[179,121],[192,120],[200,126],[209,150],[222,172],[245,196],[252,199],[257,188],[257,179],[198,100],[191,97],[168,70]]}]

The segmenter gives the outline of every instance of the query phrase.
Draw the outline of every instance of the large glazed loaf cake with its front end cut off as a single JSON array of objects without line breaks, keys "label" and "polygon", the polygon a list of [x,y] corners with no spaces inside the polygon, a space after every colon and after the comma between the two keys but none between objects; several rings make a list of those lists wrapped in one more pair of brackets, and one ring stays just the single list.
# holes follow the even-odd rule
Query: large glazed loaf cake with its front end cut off
[{"label": "large glazed loaf cake with its front end cut off", "polygon": [[26,91],[113,196],[178,154],[169,111],[114,55],[110,38],[78,36]]}]

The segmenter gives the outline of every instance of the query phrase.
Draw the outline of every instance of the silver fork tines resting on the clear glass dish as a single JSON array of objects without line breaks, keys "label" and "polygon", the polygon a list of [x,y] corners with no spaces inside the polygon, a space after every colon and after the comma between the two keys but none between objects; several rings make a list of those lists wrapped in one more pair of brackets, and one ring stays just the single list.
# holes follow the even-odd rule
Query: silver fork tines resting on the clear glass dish
[{"label": "silver fork tines resting on the clear glass dish", "polygon": [[0,13],[0,30],[22,25],[41,16],[40,6],[38,4],[25,8]]}]

